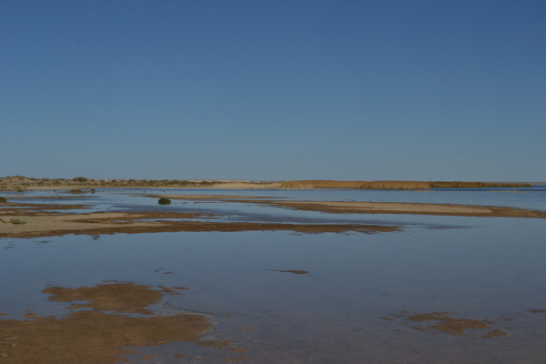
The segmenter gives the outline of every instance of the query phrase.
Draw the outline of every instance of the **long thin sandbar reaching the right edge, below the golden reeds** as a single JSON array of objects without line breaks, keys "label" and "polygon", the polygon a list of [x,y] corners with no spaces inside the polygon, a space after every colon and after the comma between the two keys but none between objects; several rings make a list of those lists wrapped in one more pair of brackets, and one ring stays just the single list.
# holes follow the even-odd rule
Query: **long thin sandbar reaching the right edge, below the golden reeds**
[{"label": "long thin sandbar reaching the right edge, below the golden reeds", "polygon": [[319,211],[335,214],[405,214],[440,215],[466,217],[535,217],[546,218],[546,212],[509,207],[489,207],[450,204],[420,204],[401,202],[349,202],[349,201],[278,201],[262,197],[244,199],[235,197],[216,197],[214,195],[161,195],[170,199],[202,199],[251,204],[272,205],[304,211]]}]

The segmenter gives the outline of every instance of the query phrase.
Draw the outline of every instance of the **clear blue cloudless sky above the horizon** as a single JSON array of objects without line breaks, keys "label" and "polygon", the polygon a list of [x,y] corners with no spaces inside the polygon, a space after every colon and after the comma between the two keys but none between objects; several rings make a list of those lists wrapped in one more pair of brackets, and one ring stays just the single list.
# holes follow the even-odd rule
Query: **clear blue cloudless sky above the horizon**
[{"label": "clear blue cloudless sky above the horizon", "polygon": [[546,180],[546,1],[1,1],[0,177]]}]

